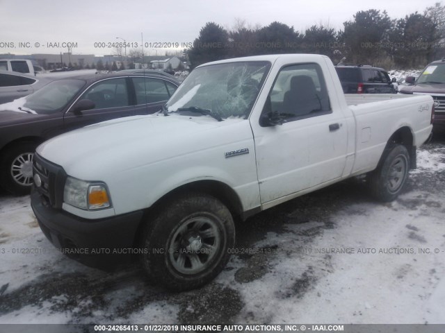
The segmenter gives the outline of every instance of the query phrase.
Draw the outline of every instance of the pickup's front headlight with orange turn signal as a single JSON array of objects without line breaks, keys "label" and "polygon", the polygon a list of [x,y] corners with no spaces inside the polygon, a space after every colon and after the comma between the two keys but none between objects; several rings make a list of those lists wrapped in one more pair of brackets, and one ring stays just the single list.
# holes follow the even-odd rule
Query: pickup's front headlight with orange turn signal
[{"label": "pickup's front headlight with orange turn signal", "polygon": [[105,184],[68,177],[63,201],[81,210],[97,210],[111,206]]}]

